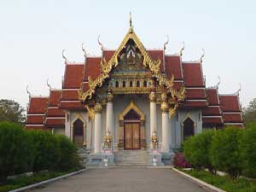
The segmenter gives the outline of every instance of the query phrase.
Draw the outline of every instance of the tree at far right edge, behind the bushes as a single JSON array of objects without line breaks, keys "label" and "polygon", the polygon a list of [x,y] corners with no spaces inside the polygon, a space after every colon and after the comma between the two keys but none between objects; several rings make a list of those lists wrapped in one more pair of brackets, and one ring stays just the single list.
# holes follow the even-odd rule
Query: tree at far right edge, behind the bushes
[{"label": "tree at far right edge, behind the bushes", "polygon": [[242,109],[242,113],[245,125],[256,123],[256,98],[249,103],[247,108]]}]

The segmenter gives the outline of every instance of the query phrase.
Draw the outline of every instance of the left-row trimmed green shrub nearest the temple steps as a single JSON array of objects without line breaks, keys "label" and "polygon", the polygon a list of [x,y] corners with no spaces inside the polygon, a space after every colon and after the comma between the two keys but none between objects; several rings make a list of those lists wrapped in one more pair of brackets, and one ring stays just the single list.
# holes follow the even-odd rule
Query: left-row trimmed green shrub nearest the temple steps
[{"label": "left-row trimmed green shrub nearest the temple steps", "polygon": [[71,143],[66,136],[58,135],[55,137],[58,140],[61,152],[60,160],[56,168],[61,171],[67,171],[79,167],[79,155],[77,154],[76,145]]}]

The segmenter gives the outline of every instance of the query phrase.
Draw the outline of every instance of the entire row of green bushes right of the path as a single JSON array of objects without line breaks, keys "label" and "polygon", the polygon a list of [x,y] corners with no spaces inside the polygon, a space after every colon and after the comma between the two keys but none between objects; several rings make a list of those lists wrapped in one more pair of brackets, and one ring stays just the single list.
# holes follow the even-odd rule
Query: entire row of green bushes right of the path
[{"label": "entire row of green bushes right of the path", "polygon": [[227,172],[230,177],[256,177],[256,125],[203,131],[183,143],[186,160],[196,169]]}]

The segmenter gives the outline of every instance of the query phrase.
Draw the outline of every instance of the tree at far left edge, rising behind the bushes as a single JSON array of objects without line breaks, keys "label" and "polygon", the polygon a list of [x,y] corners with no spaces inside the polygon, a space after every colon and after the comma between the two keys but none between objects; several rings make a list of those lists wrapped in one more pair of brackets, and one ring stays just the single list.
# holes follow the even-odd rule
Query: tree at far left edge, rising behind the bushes
[{"label": "tree at far left edge, rising behind the bushes", "polygon": [[25,109],[13,100],[0,100],[0,121],[23,124],[26,120]]}]

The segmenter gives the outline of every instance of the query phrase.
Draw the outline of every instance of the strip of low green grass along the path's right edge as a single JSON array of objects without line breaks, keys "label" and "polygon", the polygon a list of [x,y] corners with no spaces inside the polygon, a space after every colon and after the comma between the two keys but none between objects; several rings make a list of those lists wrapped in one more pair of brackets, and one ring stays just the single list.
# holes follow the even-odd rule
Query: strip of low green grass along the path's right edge
[{"label": "strip of low green grass along the path's right edge", "polygon": [[212,175],[210,172],[206,171],[179,170],[228,192],[256,192],[255,180],[247,180],[246,178],[232,180],[229,176],[221,177],[218,175]]}]

